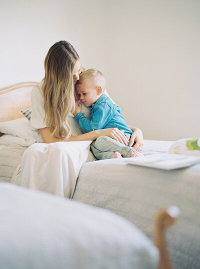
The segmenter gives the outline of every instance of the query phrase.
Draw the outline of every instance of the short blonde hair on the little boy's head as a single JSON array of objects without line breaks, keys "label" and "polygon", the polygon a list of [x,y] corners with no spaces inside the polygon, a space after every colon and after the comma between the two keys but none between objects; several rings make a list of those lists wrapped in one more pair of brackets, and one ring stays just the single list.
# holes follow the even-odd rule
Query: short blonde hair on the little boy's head
[{"label": "short blonde hair on the little boy's head", "polygon": [[86,79],[92,79],[92,83],[94,84],[94,86],[101,86],[102,92],[104,92],[105,78],[99,70],[95,68],[90,68],[81,72],[79,74],[79,80],[76,82],[76,84],[82,84]]}]

